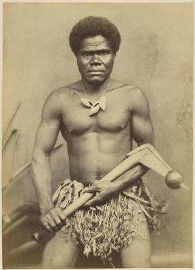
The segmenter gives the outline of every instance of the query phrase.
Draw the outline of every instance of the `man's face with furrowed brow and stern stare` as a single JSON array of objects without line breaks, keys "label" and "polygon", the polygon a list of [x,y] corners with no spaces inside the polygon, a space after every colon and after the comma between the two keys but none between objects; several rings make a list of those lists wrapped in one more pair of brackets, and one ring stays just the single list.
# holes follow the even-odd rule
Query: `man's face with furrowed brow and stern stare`
[{"label": "man's face with furrowed brow and stern stare", "polygon": [[81,77],[88,83],[102,84],[112,72],[114,53],[103,36],[83,39],[76,55]]}]

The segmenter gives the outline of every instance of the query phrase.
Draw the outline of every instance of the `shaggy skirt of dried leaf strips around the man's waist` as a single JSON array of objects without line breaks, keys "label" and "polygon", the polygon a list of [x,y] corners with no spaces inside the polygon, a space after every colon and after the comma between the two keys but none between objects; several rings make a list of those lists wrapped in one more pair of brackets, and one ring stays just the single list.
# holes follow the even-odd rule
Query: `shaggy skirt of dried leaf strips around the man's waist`
[{"label": "shaggy skirt of dried leaf strips around the man's waist", "polygon": [[[81,196],[83,187],[81,182],[66,179],[53,195],[55,205],[65,209]],[[111,262],[113,250],[119,251],[133,241],[135,234],[140,235],[142,212],[150,228],[159,226],[157,214],[162,212],[162,207],[142,180],[138,180],[102,205],[76,210],[67,217],[62,236],[83,245],[84,255],[92,252],[103,261]]]}]

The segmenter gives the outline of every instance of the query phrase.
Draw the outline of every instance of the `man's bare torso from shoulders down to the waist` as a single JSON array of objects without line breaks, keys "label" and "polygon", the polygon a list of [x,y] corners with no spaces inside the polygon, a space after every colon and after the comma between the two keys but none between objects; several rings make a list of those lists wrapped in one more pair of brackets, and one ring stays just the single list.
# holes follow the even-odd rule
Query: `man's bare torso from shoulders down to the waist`
[{"label": "man's bare torso from shoulders down to the waist", "polygon": [[[100,180],[123,161],[130,151],[130,120],[133,109],[133,100],[130,97],[133,89],[132,86],[112,80],[105,93],[105,112],[100,110],[93,116],[88,116],[89,109],[81,103],[80,98],[85,97],[81,82],[58,90],[60,131],[67,142],[72,180],[83,183]],[[92,101],[98,100],[96,98]]]}]

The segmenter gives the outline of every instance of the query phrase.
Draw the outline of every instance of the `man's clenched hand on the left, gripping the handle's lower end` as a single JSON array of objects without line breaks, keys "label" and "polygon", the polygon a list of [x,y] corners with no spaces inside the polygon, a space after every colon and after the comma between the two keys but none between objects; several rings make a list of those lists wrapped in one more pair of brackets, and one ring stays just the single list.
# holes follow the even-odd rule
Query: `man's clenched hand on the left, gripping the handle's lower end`
[{"label": "man's clenched hand on the left, gripping the handle's lower end", "polygon": [[50,232],[58,231],[62,228],[66,216],[60,207],[53,207],[48,212],[41,215],[41,223],[43,227]]}]

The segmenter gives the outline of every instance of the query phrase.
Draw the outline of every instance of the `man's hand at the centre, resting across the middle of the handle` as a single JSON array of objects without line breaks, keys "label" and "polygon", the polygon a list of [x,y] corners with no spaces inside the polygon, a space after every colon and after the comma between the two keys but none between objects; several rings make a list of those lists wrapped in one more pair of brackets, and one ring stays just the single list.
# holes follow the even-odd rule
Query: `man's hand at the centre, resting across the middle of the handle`
[{"label": "man's hand at the centre, resting across the middle of the handle", "polygon": [[83,206],[88,207],[103,203],[107,200],[107,198],[109,198],[109,196],[116,194],[117,191],[119,191],[118,183],[110,181],[96,181],[90,187],[86,187],[85,189],[83,189],[83,193],[96,193],[96,195],[88,202],[86,202]]}]

